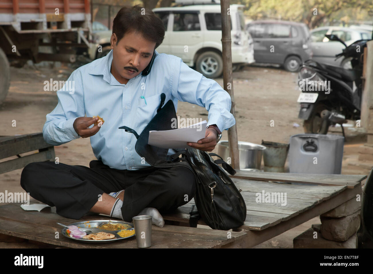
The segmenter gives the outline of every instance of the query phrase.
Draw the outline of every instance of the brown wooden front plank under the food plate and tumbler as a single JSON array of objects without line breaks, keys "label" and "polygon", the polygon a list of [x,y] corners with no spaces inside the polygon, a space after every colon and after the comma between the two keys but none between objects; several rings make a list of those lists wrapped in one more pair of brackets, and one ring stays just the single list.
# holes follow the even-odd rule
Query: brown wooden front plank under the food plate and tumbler
[{"label": "brown wooden front plank under the food plate and tumbler", "polygon": [[[106,244],[82,244],[61,234],[59,239],[56,239],[56,232],[61,231],[56,221],[71,224],[76,223],[77,220],[57,215],[55,208],[46,208],[41,212],[23,211],[19,205],[21,204],[7,204],[0,207],[0,233],[69,248],[137,247],[135,237]],[[81,220],[87,219],[97,220],[105,218],[99,215],[87,215]],[[169,225],[165,225],[162,228],[153,225],[152,229],[151,248],[219,248],[222,245],[241,240],[246,236],[245,232],[231,232],[231,238],[229,238],[225,231]]]}]

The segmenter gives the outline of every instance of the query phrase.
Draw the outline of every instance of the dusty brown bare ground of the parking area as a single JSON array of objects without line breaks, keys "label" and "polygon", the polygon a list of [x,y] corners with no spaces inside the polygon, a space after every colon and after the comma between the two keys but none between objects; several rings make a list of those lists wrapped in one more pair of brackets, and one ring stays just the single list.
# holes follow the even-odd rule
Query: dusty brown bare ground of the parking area
[{"label": "dusty brown bare ground of the parking area", "polygon": [[[9,94],[5,102],[0,105],[3,121],[0,135],[42,132],[46,114],[57,105],[56,93],[44,91],[43,82],[50,78],[66,80],[72,71],[72,68],[64,65],[57,68],[35,68],[27,65],[21,69],[12,67]],[[290,136],[303,133],[302,121],[297,118],[299,90],[296,85],[296,73],[273,67],[246,67],[244,70],[234,72],[233,79],[239,141],[260,144],[264,139],[264,141],[287,143]],[[223,85],[223,79],[216,79],[216,81]],[[179,102],[177,114],[181,117],[207,119],[205,108],[185,102]],[[16,127],[12,127],[12,120],[16,120]],[[274,120],[274,127],[270,126],[271,120]],[[294,123],[300,126],[295,127]],[[228,139],[226,131],[223,132],[222,139]],[[364,142],[364,138],[351,140],[352,142],[345,144],[342,174],[367,174],[369,166],[372,167],[370,163],[366,164],[368,167],[365,169],[354,168],[349,164],[357,160],[356,148]],[[95,160],[90,140],[87,138],[76,139],[54,149],[61,163],[89,166],[89,162]],[[26,154],[21,154],[23,155]],[[21,171],[22,169],[18,169],[0,174],[0,191],[7,189],[8,192],[23,192],[19,185]],[[293,238],[316,223],[320,223],[319,217],[270,239],[257,248],[292,248]],[[17,245],[6,244],[6,246]]]}]

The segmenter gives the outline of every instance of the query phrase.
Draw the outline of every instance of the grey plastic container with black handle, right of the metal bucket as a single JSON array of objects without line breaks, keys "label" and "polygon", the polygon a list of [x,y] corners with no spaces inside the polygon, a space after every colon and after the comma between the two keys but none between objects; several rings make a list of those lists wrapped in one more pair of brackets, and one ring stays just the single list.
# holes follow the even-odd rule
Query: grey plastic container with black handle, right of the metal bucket
[{"label": "grey plastic container with black handle, right of the metal bucket", "polygon": [[290,137],[290,173],[341,174],[344,137],[297,134]]}]

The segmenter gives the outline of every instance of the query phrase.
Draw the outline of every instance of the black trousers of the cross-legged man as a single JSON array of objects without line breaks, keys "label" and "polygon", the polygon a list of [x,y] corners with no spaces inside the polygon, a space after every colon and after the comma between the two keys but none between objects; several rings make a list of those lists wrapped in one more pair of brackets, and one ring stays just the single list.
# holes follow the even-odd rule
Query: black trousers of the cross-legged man
[{"label": "black trousers of the cross-legged man", "polygon": [[171,212],[188,203],[196,191],[194,174],[186,167],[117,170],[98,160],[90,167],[30,163],[22,170],[21,186],[31,197],[55,206],[57,214],[72,219],[87,214],[99,195],[125,189],[122,216],[128,222],[145,207]]}]

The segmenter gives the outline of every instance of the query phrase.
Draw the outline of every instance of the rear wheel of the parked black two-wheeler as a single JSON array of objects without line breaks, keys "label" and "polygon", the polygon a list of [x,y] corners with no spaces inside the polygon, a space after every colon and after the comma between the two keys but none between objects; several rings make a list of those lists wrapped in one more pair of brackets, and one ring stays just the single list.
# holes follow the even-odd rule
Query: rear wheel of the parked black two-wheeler
[{"label": "rear wheel of the parked black two-wheeler", "polygon": [[321,111],[330,110],[325,104],[317,104],[308,120],[304,120],[304,133],[326,134],[329,130],[330,121],[321,118]]}]

